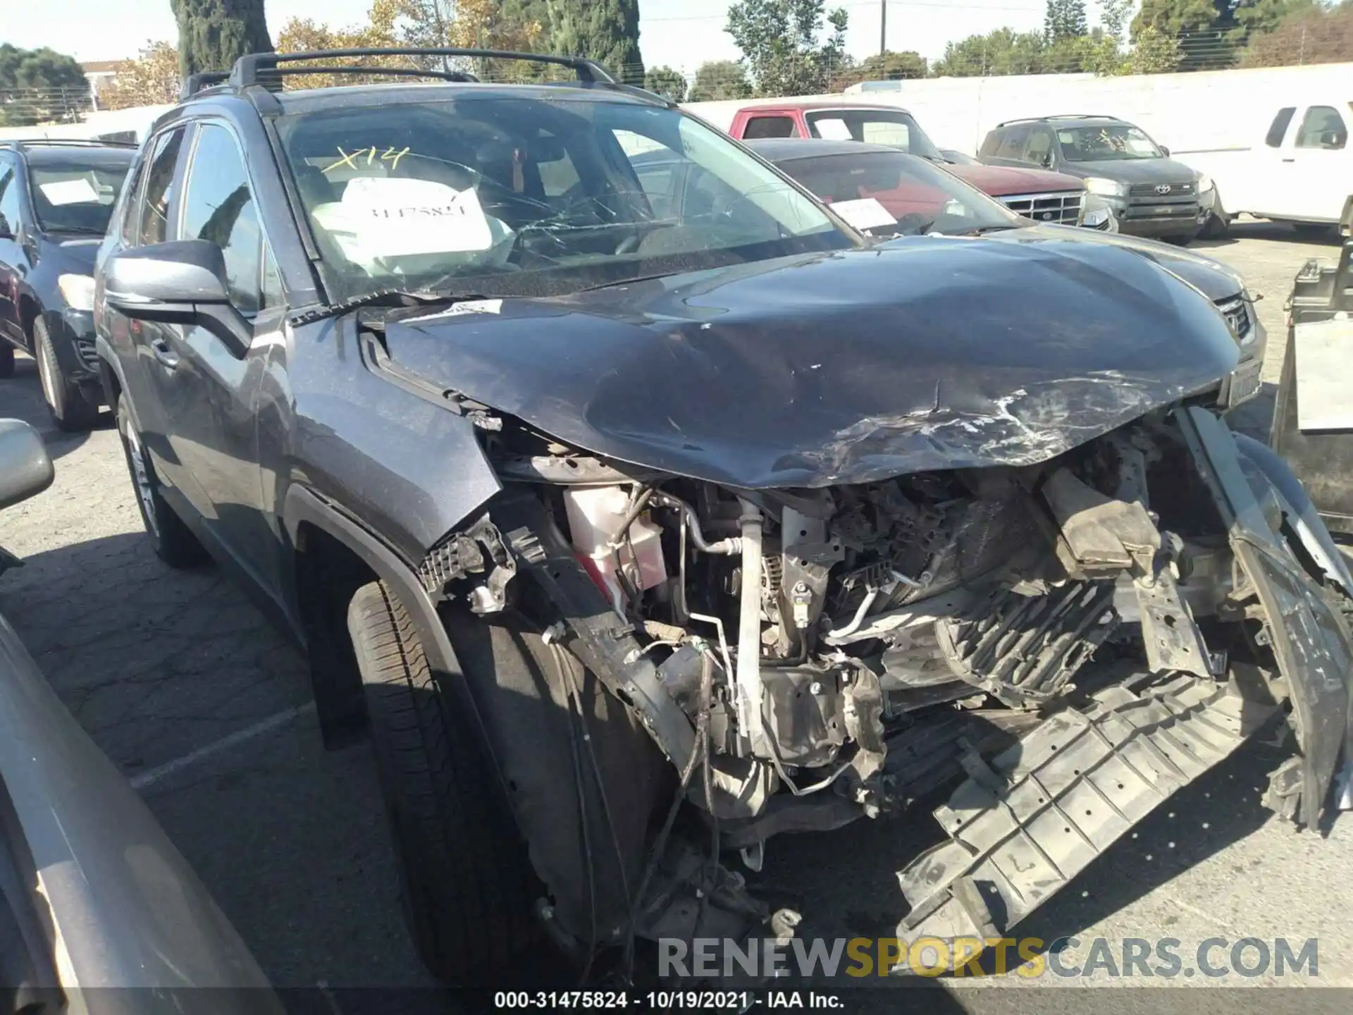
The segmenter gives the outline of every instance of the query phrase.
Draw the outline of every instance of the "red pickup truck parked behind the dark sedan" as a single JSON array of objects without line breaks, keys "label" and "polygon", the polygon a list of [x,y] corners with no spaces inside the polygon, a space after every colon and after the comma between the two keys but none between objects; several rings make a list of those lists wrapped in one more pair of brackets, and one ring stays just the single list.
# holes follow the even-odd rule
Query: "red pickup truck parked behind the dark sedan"
[{"label": "red pickup truck parked behind the dark sedan", "polygon": [[[697,107],[693,112],[700,112]],[[716,126],[718,126],[716,123]],[[1085,184],[1062,173],[1043,169],[1015,169],[996,165],[950,162],[920,129],[916,119],[896,106],[867,103],[786,100],[774,106],[747,106],[733,114],[728,134],[739,139],[831,138],[889,145],[913,156],[942,162],[965,183],[996,198],[1011,211],[1038,222],[1086,225],[1109,229],[1111,215],[1082,222]]]}]

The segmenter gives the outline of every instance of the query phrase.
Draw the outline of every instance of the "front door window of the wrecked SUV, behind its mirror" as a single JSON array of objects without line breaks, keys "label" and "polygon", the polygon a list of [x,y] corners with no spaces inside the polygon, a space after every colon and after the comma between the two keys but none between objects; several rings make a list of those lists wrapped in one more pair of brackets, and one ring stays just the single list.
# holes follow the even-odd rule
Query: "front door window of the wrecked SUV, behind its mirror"
[{"label": "front door window of the wrecked SUV, behind its mirror", "polygon": [[181,240],[206,240],[221,248],[226,291],[241,314],[262,306],[262,230],[258,207],[234,135],[204,123],[183,198]]}]

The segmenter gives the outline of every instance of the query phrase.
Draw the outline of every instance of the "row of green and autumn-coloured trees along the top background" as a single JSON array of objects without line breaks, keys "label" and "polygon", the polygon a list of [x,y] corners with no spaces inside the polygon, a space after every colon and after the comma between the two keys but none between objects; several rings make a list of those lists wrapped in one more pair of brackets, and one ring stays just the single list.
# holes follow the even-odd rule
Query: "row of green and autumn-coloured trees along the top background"
[{"label": "row of green and autumn-coloured trees along the top background", "polygon": [[[173,102],[184,76],[229,69],[244,53],[275,47],[264,0],[169,4],[177,43],[147,42],[138,57],[122,61],[114,85],[99,95],[101,107]],[[597,60],[622,81],[675,102],[839,92],[861,81],[917,77],[1139,74],[1353,61],[1353,0],[1141,0],[1139,8],[1135,0],[1101,0],[1100,23],[1093,28],[1085,0],[1046,0],[1042,31],[997,28],[970,35],[950,42],[932,62],[911,50],[855,60],[846,51],[848,23],[846,8],[828,8],[827,0],[736,0],[724,31],[741,58],[705,62],[683,73],[644,66],[639,0],[372,0],[360,24],[290,19],[277,31],[276,49],[451,46],[566,53]],[[387,62],[418,65],[413,58]],[[465,69],[495,81],[563,73],[497,60],[468,61]],[[333,80],[317,74],[291,84]],[[0,125],[76,119],[89,106],[74,60],[50,49],[0,46]]]}]

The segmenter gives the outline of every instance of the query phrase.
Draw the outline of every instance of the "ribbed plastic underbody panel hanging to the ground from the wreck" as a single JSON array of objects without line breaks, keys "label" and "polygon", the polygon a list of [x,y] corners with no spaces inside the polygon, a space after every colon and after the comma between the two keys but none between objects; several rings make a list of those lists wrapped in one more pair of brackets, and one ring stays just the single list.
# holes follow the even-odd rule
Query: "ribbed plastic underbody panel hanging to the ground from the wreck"
[{"label": "ribbed plastic underbody panel hanging to the ground from the wreck", "polygon": [[1270,713],[1177,675],[1050,716],[935,809],[950,840],[898,872],[911,912],[897,937],[1003,935]]}]

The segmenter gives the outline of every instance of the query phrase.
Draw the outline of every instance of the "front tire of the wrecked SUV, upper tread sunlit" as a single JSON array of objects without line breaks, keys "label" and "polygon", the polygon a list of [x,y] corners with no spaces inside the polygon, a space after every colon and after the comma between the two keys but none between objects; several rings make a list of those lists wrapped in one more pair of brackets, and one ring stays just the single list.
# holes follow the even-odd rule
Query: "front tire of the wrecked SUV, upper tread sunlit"
[{"label": "front tire of the wrecked SUV, upper tread sunlit", "polygon": [[532,904],[543,889],[509,808],[494,798],[492,762],[383,582],[353,595],[348,631],[414,946],[449,985],[517,983],[541,939]]}]

